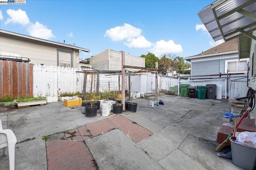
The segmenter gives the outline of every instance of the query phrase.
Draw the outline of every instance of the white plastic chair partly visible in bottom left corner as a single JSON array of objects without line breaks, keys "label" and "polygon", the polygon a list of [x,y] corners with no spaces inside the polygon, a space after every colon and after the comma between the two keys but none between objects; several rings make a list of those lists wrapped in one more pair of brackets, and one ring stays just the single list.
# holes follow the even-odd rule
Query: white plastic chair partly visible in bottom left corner
[{"label": "white plastic chair partly visible in bottom left corner", "polygon": [[[14,170],[15,162],[15,144],[17,143],[16,136],[10,129],[2,128],[2,121],[0,119],[0,149],[3,150],[3,156],[9,155],[9,168]],[[8,151],[7,151],[8,148]]]}]

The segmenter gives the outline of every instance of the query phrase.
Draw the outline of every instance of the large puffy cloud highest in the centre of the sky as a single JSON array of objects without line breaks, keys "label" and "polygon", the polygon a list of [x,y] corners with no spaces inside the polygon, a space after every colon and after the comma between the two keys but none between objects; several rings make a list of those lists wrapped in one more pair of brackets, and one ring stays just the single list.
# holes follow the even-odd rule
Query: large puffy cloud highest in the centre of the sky
[{"label": "large puffy cloud highest in the centre of the sky", "polygon": [[141,32],[142,30],[140,28],[124,23],[122,26],[108,29],[105,32],[104,37],[109,37],[112,41],[122,41],[132,37],[139,37]]}]

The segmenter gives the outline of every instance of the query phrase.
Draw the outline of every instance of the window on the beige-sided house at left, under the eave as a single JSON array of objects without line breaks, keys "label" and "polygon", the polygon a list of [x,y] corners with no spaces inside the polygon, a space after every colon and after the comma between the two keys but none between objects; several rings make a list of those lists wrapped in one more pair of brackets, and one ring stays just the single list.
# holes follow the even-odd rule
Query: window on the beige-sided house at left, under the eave
[{"label": "window on the beige-sided house at left, under the eave", "polygon": [[73,53],[70,51],[57,50],[57,64],[63,67],[73,67]]}]

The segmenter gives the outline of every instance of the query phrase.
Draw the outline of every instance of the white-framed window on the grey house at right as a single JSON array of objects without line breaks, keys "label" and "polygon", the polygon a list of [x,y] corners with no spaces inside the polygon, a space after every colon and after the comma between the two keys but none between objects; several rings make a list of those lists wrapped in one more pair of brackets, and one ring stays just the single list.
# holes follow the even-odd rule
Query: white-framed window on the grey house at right
[{"label": "white-framed window on the grey house at right", "polygon": [[225,72],[247,72],[247,63],[249,59],[226,60]]}]

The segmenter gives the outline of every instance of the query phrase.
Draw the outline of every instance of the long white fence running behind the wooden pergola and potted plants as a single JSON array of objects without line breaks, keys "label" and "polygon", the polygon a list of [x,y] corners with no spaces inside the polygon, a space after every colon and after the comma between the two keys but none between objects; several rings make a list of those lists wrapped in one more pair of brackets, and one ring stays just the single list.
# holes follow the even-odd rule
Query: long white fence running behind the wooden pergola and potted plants
[{"label": "long white fence running behind the wooden pergola and potted plants", "polygon": [[[88,71],[82,68],[64,68],[60,66],[34,65],[33,94],[38,96],[59,96],[62,93],[83,92],[85,74],[77,71]],[[122,89],[120,74],[100,74],[99,91],[117,91]],[[145,73],[131,75],[131,92],[151,93],[155,89],[155,74]],[[119,82],[120,80],[120,82]],[[128,90],[128,75],[126,75]],[[96,92],[97,75],[87,74],[86,92]],[[158,75],[158,90],[168,90],[169,86],[178,85],[178,79]]]}]

